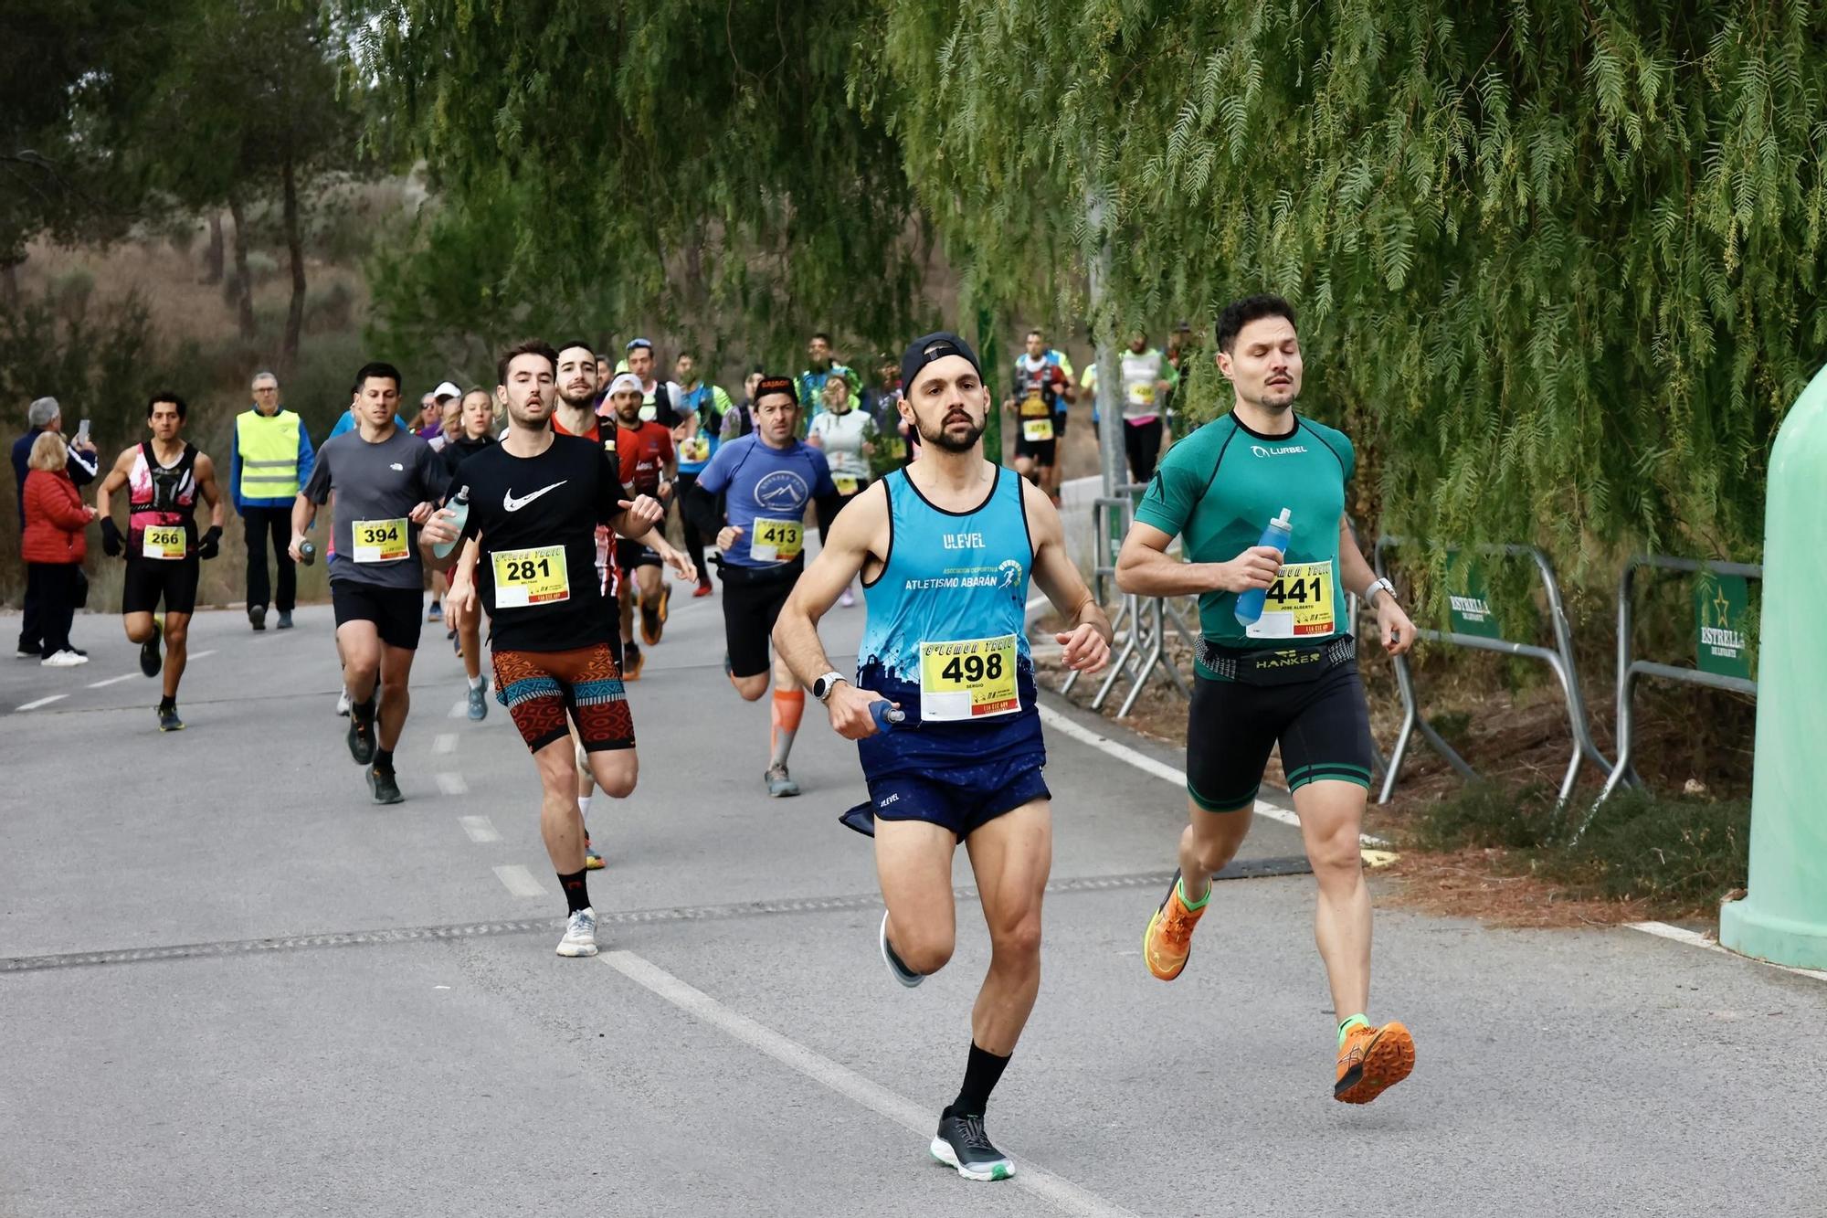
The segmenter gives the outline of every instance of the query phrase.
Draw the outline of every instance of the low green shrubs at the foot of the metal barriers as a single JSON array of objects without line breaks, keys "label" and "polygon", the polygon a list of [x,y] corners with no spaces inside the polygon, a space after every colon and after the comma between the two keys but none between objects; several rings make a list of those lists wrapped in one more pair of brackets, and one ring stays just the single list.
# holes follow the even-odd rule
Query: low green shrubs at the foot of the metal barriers
[{"label": "low green shrubs at the foot of the metal barriers", "polygon": [[1580,898],[1639,900],[1663,916],[1716,914],[1743,889],[1750,852],[1750,801],[1706,801],[1617,792],[1575,843],[1577,803],[1555,810],[1547,786],[1505,790],[1474,783],[1425,808],[1405,845],[1431,852],[1496,847],[1498,869],[1531,874]]}]

